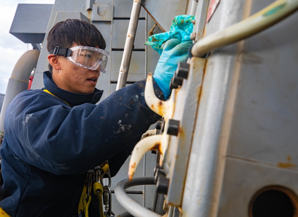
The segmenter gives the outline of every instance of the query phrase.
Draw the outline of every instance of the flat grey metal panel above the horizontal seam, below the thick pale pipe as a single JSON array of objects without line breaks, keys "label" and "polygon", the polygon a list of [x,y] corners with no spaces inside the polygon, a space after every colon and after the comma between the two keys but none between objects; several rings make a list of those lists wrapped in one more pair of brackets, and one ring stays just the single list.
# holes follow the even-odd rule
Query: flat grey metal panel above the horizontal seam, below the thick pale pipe
[{"label": "flat grey metal panel above the horizontal seam, below the thick pale pipe", "polygon": [[[252,13],[269,3],[254,1]],[[298,170],[297,21],[246,40],[229,155]]]}]

